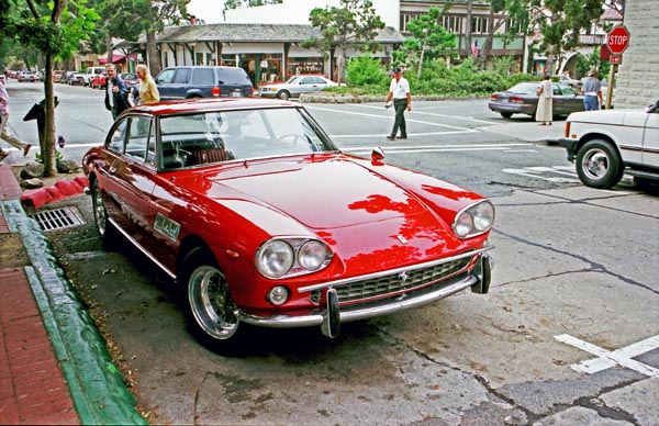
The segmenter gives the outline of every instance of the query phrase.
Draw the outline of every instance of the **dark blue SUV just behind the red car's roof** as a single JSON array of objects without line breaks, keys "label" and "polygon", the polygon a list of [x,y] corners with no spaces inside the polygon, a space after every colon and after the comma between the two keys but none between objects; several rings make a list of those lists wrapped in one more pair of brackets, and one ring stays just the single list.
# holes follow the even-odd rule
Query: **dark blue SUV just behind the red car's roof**
[{"label": "dark blue SUV just behind the red car's roof", "polygon": [[156,77],[160,100],[250,97],[254,86],[243,68],[170,67]]}]

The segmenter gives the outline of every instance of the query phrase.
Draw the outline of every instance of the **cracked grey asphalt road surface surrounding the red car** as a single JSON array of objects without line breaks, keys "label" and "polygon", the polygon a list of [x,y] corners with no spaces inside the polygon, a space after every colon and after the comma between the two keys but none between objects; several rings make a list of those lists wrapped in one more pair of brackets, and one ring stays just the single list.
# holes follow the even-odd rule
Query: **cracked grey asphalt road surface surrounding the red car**
[{"label": "cracked grey asphalt road surface surrounding the red car", "polygon": [[[103,137],[101,94],[62,94],[70,146]],[[33,102],[12,96],[14,112]],[[394,142],[380,104],[308,108],[343,149],[380,145],[390,162],[490,197],[491,291],[348,324],[336,339],[249,329],[244,356],[223,357],[187,333],[174,284],[135,250],[105,249],[89,198],[69,199],[86,223],[49,235],[152,423],[659,424],[656,190],[583,187],[543,142],[562,123],[505,121],[487,100],[415,102],[410,138]]]}]

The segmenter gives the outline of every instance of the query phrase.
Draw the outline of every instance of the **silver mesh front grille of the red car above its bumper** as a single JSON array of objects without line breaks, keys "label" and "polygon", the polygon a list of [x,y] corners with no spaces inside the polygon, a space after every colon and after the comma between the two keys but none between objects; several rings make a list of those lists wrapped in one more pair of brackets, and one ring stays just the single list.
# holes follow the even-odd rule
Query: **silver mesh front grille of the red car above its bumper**
[{"label": "silver mesh front grille of the red car above its bumper", "polygon": [[[338,295],[338,303],[353,304],[362,300],[382,299],[433,285],[458,273],[469,265],[470,260],[471,258],[467,257],[424,269],[415,269],[370,280],[350,282],[345,285],[337,285],[335,290]],[[312,301],[317,303],[320,298],[320,290],[312,291]]]}]

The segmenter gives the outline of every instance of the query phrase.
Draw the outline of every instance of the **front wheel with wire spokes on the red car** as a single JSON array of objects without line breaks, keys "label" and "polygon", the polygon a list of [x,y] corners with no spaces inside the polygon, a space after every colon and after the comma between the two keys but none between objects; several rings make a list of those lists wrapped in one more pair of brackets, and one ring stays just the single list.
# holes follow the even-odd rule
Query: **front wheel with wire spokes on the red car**
[{"label": "front wheel with wire spokes on the red car", "polygon": [[208,248],[196,247],[186,256],[180,284],[186,287],[186,307],[192,334],[204,346],[221,352],[236,350],[239,320],[228,284]]}]

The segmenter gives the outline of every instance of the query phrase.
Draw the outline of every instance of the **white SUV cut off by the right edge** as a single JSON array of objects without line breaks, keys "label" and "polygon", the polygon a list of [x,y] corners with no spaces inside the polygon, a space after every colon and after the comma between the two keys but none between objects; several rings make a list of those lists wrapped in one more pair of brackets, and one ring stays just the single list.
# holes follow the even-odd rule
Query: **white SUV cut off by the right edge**
[{"label": "white SUV cut off by the right edge", "polygon": [[659,181],[659,101],[646,110],[573,112],[558,142],[588,187],[614,187],[624,173]]}]

